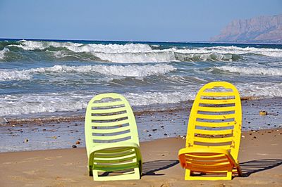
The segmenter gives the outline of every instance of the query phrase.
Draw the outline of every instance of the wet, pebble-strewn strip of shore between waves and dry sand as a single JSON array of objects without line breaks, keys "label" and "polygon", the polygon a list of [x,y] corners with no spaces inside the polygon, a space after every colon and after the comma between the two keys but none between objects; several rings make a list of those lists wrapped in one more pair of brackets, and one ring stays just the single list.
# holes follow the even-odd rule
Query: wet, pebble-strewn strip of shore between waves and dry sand
[{"label": "wet, pebble-strewn strip of shore between waves and dry sand", "polygon": [[[243,100],[242,131],[281,128],[281,103],[282,98]],[[187,102],[178,108],[162,111],[135,110],[140,142],[185,136],[191,106],[192,102]],[[261,110],[268,114],[259,115]],[[15,121],[0,125],[0,153],[85,146],[84,116],[23,122],[25,123]]]}]

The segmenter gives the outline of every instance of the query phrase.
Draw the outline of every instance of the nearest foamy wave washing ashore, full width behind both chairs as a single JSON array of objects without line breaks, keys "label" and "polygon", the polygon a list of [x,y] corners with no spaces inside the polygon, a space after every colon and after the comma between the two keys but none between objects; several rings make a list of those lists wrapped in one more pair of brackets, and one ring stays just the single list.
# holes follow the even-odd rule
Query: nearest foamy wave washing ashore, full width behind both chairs
[{"label": "nearest foamy wave washing ashore, full width behind both chairs", "polygon": [[[235,85],[241,97],[272,98],[282,96],[282,84],[245,83]],[[130,105],[173,104],[195,99],[197,89],[183,89],[174,91],[147,91],[140,93],[123,93]],[[17,94],[0,96],[0,115],[23,115],[42,112],[76,111],[87,107],[87,102],[97,93],[66,92],[45,94]]]}]

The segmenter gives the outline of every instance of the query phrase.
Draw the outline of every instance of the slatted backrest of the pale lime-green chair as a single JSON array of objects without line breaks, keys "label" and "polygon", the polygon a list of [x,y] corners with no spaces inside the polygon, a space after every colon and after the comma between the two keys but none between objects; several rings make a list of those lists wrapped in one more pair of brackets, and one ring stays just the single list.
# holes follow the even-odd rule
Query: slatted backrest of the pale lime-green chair
[{"label": "slatted backrest of the pale lime-green chair", "polygon": [[135,117],[128,101],[118,93],[94,96],[85,113],[87,152],[97,145],[125,141],[139,146]]}]

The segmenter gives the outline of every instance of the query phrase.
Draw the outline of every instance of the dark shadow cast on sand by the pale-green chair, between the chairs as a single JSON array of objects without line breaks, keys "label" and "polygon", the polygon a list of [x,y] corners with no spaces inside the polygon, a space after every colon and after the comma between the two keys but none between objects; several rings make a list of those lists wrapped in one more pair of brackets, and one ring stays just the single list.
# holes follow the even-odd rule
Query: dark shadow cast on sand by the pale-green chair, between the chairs
[{"label": "dark shadow cast on sand by the pale-green chair, between the chairs", "polygon": [[149,162],[144,162],[142,165],[142,175],[164,175],[155,174],[155,172],[161,171],[163,169],[168,169],[178,165],[178,160],[154,160]]}]

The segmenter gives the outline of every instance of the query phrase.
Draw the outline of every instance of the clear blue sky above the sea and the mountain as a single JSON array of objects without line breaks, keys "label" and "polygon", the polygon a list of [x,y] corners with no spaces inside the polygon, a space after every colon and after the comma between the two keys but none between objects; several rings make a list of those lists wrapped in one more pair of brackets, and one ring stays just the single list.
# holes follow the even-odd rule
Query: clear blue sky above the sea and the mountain
[{"label": "clear blue sky above the sea and the mountain", "polygon": [[281,0],[0,0],[0,37],[207,41],[231,20],[280,13]]}]

